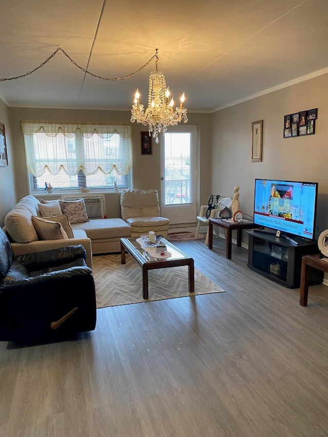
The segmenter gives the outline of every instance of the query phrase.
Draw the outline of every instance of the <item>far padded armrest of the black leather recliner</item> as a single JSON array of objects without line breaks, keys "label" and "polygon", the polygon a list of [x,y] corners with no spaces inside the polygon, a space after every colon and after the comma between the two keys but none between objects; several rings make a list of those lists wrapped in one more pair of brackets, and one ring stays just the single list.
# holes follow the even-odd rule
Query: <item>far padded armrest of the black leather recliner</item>
[{"label": "far padded armrest of the black leather recliner", "polygon": [[85,260],[86,257],[85,248],[83,245],[78,244],[75,246],[58,247],[44,252],[18,255],[15,257],[15,260],[25,265],[31,271],[69,263],[78,258]]}]

